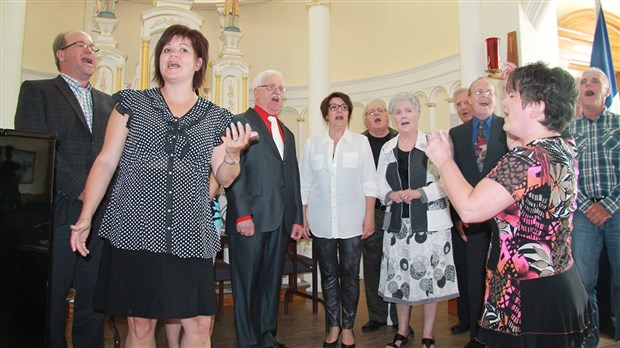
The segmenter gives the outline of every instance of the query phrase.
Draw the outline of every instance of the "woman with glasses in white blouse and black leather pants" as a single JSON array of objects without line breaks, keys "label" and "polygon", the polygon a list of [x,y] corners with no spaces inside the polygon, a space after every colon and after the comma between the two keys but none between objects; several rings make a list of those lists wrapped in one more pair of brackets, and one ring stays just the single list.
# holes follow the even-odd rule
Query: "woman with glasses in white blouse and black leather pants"
[{"label": "woman with glasses in white blouse and black leather pants", "polygon": [[374,231],[375,162],[368,139],[348,129],[352,108],[341,92],[323,100],[328,130],[308,139],[300,163],[304,237],[312,231],[330,327],[323,347],[337,347],[341,327],[341,347],[355,347],[362,239]]}]

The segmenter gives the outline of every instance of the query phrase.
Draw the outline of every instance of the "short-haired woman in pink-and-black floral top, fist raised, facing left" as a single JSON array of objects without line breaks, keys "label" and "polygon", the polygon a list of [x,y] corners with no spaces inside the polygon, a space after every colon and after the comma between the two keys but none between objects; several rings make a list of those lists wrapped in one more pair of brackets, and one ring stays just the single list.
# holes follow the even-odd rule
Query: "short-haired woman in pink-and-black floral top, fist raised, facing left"
[{"label": "short-haired woman in pink-and-black floral top, fist raised, facing left", "polygon": [[571,255],[577,149],[561,133],[577,89],[561,68],[538,62],[506,83],[504,130],[518,146],[472,187],[452,159],[445,133],[426,153],[463,222],[495,217],[477,340],[488,347],[581,347],[590,308]]}]

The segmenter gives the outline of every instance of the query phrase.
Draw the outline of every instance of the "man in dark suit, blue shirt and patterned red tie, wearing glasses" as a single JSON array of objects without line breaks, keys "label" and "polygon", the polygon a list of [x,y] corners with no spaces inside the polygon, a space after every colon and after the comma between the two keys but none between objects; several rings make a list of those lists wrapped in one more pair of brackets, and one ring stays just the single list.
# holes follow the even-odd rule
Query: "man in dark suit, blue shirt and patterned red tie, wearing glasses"
[{"label": "man in dark suit, blue shirt and patterned red tie, wearing glasses", "polygon": [[[469,104],[474,117],[452,129],[450,138],[454,144],[454,161],[475,186],[495,167],[506,154],[506,132],[504,119],[493,113],[496,92],[491,80],[479,78],[469,87]],[[466,348],[483,347],[475,340],[478,334],[478,320],[482,313],[486,257],[489,249],[492,220],[479,224],[463,224],[453,212],[453,220],[461,238],[465,241],[467,295],[470,313],[470,338]]]}]

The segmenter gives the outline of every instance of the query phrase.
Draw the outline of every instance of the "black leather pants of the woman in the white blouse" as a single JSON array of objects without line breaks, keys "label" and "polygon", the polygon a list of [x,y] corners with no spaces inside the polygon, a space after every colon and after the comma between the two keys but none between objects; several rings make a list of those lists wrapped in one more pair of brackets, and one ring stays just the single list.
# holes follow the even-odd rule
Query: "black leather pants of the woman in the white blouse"
[{"label": "black leather pants of the woman in the white blouse", "polygon": [[[352,329],[360,295],[362,238],[313,238],[317,248],[323,299],[329,327]],[[342,305],[342,325],[340,306]]]}]

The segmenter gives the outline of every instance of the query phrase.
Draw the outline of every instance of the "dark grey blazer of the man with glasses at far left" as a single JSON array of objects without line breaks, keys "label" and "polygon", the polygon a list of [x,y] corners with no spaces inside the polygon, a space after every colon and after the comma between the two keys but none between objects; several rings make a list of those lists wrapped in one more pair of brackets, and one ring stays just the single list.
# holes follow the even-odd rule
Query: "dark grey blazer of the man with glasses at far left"
[{"label": "dark grey blazer of the man with glasses at far left", "polygon": [[55,213],[56,225],[74,223],[81,209],[80,195],[90,168],[103,147],[112,112],[112,97],[92,89],[93,131],[88,129],[80,104],[59,75],[51,80],[24,81],[19,92],[15,128],[55,133],[57,137]]}]

